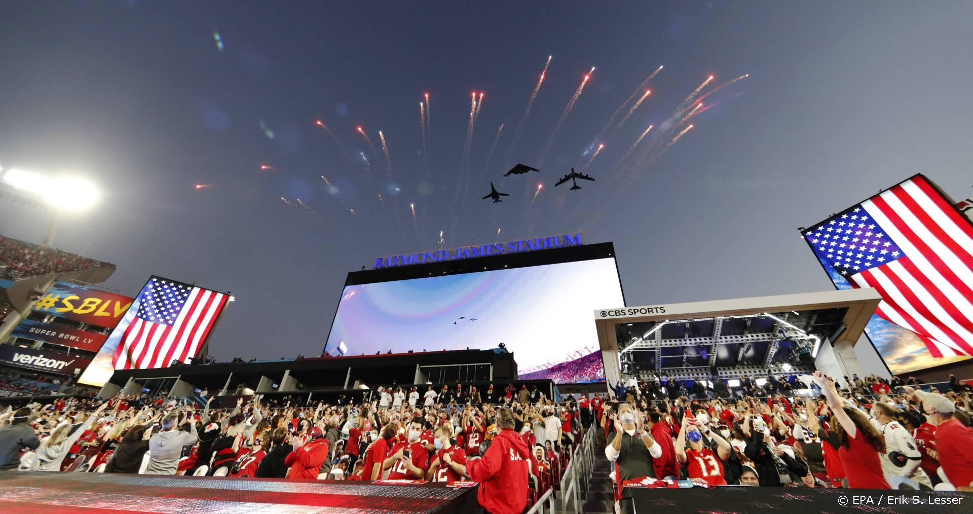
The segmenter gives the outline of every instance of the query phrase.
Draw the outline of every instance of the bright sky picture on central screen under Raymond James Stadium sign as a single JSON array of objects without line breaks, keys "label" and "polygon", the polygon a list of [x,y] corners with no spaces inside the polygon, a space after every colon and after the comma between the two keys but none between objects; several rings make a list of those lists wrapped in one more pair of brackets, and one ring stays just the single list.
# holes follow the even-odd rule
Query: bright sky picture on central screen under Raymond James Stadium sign
[{"label": "bright sky picture on central screen under Raymond James Stadium sign", "polygon": [[614,258],[349,285],[325,351],[495,349],[520,378],[603,382],[592,312],[624,305]]}]

